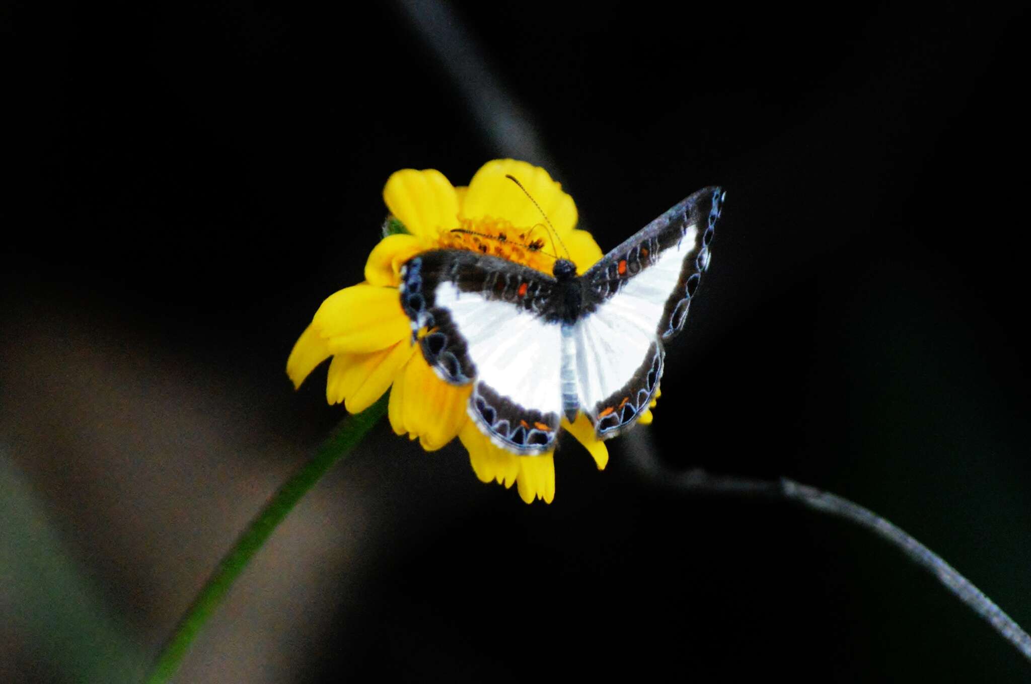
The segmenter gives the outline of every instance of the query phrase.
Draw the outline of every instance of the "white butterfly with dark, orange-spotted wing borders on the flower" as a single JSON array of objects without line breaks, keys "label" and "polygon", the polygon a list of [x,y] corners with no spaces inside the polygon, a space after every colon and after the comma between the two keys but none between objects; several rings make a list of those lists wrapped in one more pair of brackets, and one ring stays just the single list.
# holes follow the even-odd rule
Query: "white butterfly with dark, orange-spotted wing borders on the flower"
[{"label": "white butterfly with dark, orange-spotted wing borders on the flower", "polygon": [[655,399],[725,196],[698,191],[580,276],[567,259],[548,276],[475,251],[422,252],[400,271],[412,342],[442,380],[473,385],[467,413],[503,449],[550,451],[562,416],[578,412],[614,437]]}]

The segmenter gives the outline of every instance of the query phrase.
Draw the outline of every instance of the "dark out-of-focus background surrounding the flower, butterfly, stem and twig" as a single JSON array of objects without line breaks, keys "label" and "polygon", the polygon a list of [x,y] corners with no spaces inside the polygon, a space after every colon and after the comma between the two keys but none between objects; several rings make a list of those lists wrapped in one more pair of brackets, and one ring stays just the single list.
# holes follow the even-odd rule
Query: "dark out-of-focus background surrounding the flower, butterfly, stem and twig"
[{"label": "dark out-of-focus background surrounding the flower, butterfly, stem and twig", "polygon": [[[464,184],[510,153],[420,6],[0,13],[4,681],[138,676],[343,415],[323,369],[295,394],[284,367],[361,279],[388,175]],[[604,473],[567,439],[551,506],[380,425],[177,681],[1026,679],[868,533],[669,485],[703,467],[835,491],[1031,625],[1022,18],[453,8],[454,52],[486,56],[603,249],[727,189],[655,423]]]}]

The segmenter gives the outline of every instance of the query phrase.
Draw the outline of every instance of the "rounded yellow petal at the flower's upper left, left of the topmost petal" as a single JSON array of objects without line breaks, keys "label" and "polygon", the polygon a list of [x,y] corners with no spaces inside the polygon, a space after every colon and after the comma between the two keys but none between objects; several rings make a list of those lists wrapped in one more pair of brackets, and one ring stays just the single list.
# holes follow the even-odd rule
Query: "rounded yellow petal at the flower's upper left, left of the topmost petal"
[{"label": "rounded yellow petal at the flower's upper left, left of the topmost petal", "polygon": [[391,174],[384,186],[384,202],[415,236],[436,237],[439,229],[458,226],[458,195],[436,169],[402,169]]}]

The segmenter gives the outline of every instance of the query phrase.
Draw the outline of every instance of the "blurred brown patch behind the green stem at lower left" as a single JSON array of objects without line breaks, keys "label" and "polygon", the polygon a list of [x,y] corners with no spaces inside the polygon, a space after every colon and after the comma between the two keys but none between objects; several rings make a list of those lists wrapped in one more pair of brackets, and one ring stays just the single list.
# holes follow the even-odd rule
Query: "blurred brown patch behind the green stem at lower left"
[{"label": "blurred brown patch behind the green stem at lower left", "polygon": [[[35,532],[52,529],[52,551],[67,554],[80,573],[77,588],[92,594],[80,600],[106,613],[90,619],[113,617],[112,641],[129,649],[111,655],[112,669],[101,668],[95,681],[138,680],[220,557],[303,461],[310,436],[296,425],[273,430],[268,420],[285,410],[285,399],[295,400],[281,369],[269,372],[275,396],[110,312],[54,300],[22,302],[4,322],[5,467],[45,511]],[[398,464],[367,456],[397,446],[377,431],[363,445],[365,458],[343,465],[304,500],[233,589],[178,681],[297,676],[296,649],[318,641],[390,547],[396,516],[381,493],[403,486]],[[426,473],[410,475],[427,488],[422,497],[413,488],[409,505],[447,495],[446,480],[431,493]],[[30,533],[26,541],[38,540]],[[58,587],[49,593],[7,584],[3,605],[12,614],[55,610],[47,603],[64,596]],[[27,603],[33,597],[46,603]],[[31,626],[14,619],[0,627],[3,681],[45,681],[33,658],[61,661],[61,651],[89,632],[49,625],[53,643],[39,653]]]}]

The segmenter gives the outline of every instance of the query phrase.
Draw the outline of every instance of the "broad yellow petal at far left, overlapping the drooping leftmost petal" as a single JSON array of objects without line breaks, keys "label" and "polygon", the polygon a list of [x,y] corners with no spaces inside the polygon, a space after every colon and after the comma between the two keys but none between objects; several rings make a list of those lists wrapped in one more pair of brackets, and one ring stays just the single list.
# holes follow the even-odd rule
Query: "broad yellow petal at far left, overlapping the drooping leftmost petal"
[{"label": "broad yellow petal at far left, overlapping the drooping leftmost petal", "polygon": [[330,295],[311,324],[334,354],[379,351],[411,334],[397,289],[366,283]]}]

